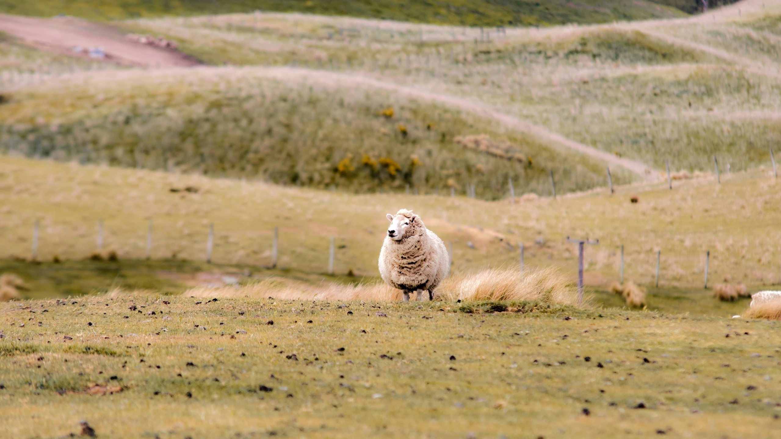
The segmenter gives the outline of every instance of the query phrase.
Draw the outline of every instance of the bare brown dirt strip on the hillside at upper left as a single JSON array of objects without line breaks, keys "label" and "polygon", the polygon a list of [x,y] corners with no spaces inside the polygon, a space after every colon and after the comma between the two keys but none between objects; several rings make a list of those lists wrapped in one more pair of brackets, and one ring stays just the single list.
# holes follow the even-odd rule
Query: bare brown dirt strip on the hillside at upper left
[{"label": "bare brown dirt strip on the hillside at upper left", "polygon": [[36,48],[66,55],[86,57],[87,54],[73,52],[73,48],[100,47],[105,52],[106,60],[124,66],[177,67],[199,64],[184,53],[128,41],[114,27],[74,17],[43,19],[0,14],[0,31]]}]

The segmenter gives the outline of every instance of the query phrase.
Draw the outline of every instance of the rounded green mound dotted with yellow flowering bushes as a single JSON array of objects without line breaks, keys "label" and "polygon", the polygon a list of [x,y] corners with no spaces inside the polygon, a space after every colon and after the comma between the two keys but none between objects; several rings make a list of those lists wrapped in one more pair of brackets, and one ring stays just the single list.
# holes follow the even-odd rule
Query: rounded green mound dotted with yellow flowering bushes
[{"label": "rounded green mound dotted with yellow flowering bushes", "polygon": [[[123,73],[88,85],[9,95],[6,153],[355,192],[419,191],[505,198],[604,184],[596,161],[503,132],[491,121],[388,92],[263,77],[262,70]],[[490,136],[502,156],[459,136]],[[498,144],[497,144],[498,145]],[[626,178],[616,174],[616,182]]]}]

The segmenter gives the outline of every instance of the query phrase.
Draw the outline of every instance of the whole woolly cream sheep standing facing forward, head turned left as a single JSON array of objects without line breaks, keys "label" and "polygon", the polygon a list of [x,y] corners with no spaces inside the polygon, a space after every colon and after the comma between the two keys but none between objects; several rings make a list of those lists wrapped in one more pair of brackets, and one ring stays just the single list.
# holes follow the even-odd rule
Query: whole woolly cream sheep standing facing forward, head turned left
[{"label": "whole woolly cream sheep standing facing forward, head turned left", "polygon": [[433,300],[434,289],[450,271],[448,249],[412,211],[401,209],[396,216],[388,213],[387,219],[391,226],[380,250],[380,276],[404,293],[405,302],[412,291],[418,301],[423,300],[423,291]]}]

